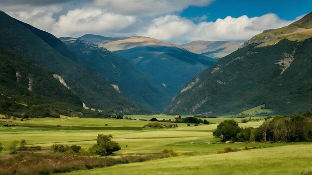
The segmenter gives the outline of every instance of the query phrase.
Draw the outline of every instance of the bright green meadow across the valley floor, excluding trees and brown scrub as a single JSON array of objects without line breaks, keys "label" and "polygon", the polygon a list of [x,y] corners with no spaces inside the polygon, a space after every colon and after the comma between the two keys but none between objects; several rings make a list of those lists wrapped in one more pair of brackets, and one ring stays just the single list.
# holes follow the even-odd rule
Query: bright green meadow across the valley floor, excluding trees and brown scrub
[{"label": "bright green meadow across the valley floor, excluding trees and brown scrub", "polygon": [[[173,119],[170,115],[129,115],[137,120],[117,120],[99,118],[32,118],[16,120],[0,119],[0,143],[5,154],[10,141],[25,139],[26,146],[41,146],[48,149],[52,144],[79,145],[89,148],[96,143],[98,134],[112,134],[121,150],[114,156],[160,154],[165,148],[172,148],[179,156],[142,163],[131,163],[86,171],[74,171],[70,175],[179,175],[179,174],[312,174],[311,143],[218,143],[212,131],[221,121],[242,118],[207,118],[210,123],[187,126],[177,123],[177,128],[142,128],[156,117]],[[161,118],[162,117],[162,118]],[[184,116],[183,116],[184,117]],[[249,118],[246,118],[249,119]],[[241,127],[259,127],[263,118],[252,117]],[[107,124],[107,126],[105,126]],[[16,126],[15,126],[16,125]],[[259,149],[217,154],[226,147]],[[260,148],[261,147],[261,148]]]}]

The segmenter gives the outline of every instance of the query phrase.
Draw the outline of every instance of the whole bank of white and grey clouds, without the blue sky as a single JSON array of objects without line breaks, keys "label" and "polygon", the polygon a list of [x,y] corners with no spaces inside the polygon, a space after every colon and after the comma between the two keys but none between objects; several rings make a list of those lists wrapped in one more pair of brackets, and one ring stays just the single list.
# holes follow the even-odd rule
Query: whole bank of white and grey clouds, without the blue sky
[{"label": "whole bank of white and grey clouds, without the blue sky", "polygon": [[[24,0],[18,1],[24,3]],[[35,3],[39,0],[30,1]],[[56,0],[60,1],[62,0]],[[70,0],[64,0],[68,1]],[[212,1],[77,0],[77,4],[68,2],[62,7],[57,4],[36,6],[17,3],[15,6],[6,5],[4,9],[12,17],[57,37],[78,37],[86,33],[113,37],[140,35],[178,44],[193,40],[243,42],[266,29],[279,28],[293,22],[283,20],[274,13],[258,17],[227,16],[209,22],[205,21],[206,15],[185,18],[175,13],[192,5],[206,6]],[[44,2],[51,3],[52,0]]]}]

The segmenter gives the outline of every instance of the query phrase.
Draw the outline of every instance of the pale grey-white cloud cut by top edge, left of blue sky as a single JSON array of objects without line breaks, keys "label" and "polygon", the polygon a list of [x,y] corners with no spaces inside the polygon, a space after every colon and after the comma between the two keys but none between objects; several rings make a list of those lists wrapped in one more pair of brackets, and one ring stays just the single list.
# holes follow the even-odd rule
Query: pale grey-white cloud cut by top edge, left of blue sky
[{"label": "pale grey-white cloud cut by top edge, left of blue sky", "polygon": [[114,13],[136,16],[168,14],[189,6],[207,6],[214,0],[94,0]]}]

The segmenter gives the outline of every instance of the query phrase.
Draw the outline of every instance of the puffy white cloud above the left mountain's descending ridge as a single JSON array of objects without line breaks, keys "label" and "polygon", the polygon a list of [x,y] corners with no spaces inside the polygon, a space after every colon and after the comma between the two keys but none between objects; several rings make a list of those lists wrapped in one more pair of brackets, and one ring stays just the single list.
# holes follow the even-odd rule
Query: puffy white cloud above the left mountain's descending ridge
[{"label": "puffy white cloud above the left mountain's descending ridge", "polygon": [[127,28],[136,21],[134,16],[105,12],[96,8],[69,10],[53,25],[57,36],[81,36],[85,33],[113,34]]}]

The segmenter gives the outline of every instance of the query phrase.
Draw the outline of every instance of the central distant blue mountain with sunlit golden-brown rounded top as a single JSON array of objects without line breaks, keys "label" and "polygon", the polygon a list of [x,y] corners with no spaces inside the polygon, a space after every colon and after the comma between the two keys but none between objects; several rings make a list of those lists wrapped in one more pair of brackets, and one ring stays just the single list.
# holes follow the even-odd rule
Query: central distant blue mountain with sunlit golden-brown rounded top
[{"label": "central distant blue mountain with sunlit golden-brown rounded top", "polygon": [[[101,41],[97,40],[92,44],[97,43]],[[141,71],[150,74],[157,84],[166,88],[170,98],[193,77],[217,61],[189,52],[179,45],[149,37],[128,37],[98,46],[123,56]]]}]

